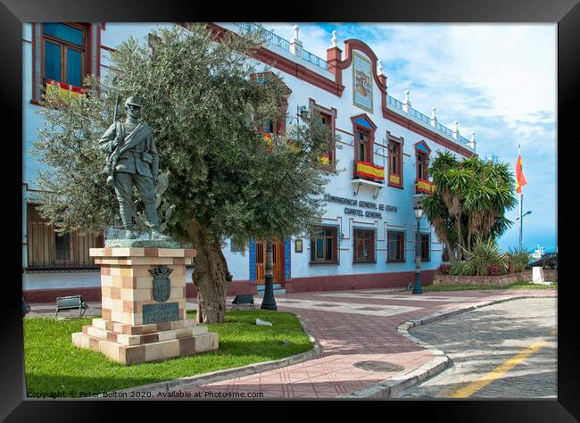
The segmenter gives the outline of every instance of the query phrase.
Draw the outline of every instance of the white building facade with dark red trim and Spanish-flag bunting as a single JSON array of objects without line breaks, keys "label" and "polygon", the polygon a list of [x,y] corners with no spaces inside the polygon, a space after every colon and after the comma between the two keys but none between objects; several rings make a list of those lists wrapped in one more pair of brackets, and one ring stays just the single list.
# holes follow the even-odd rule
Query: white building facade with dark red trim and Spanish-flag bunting
[{"label": "white building facade with dark red trim and Spanish-flag bunting", "polygon": [[[103,245],[104,236],[62,238],[37,215],[42,193],[34,181],[40,165],[29,151],[43,122],[35,109],[43,84],[77,89],[79,74],[103,75],[115,46],[129,36],[146,39],[158,25],[53,25],[23,28],[23,291],[31,302],[73,293],[98,301],[99,273],[87,253]],[[258,28],[249,23],[208,26],[236,33]],[[330,170],[323,221],[316,233],[274,245],[275,283],[288,293],[408,286],[414,280],[413,207],[418,194],[432,189],[428,162],[442,150],[470,157],[474,137],[461,137],[457,125],[442,126],[435,109],[430,116],[413,109],[409,92],[402,102],[388,95],[377,55],[359,39],[338,42],[333,32],[322,59],[305,50],[298,27],[289,40],[269,31],[266,35],[269,44],[254,58],[261,63],[258,72],[274,72],[290,92],[286,121],[272,122],[270,130],[282,132],[300,120],[301,111],[316,108],[338,137],[323,158]],[[443,245],[425,218],[419,240],[421,280],[428,285],[443,261]],[[230,294],[255,294],[263,285],[265,244],[252,239],[242,250],[228,242],[224,255],[233,274]],[[191,270],[187,293],[195,295],[190,275]]]}]

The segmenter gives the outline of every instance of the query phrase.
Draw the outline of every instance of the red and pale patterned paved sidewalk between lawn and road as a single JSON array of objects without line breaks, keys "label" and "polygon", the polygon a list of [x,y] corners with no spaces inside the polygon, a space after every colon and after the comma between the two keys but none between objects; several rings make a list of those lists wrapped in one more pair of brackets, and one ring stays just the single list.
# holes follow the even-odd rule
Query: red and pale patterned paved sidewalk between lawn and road
[{"label": "red and pale patterned paved sidewalk between lawn and road", "polygon": [[[278,311],[290,311],[302,320],[320,345],[319,357],[286,367],[233,377],[206,385],[176,388],[173,392],[199,393],[201,398],[236,398],[244,393],[263,398],[336,398],[352,394],[392,377],[405,377],[434,361],[433,352],[402,336],[405,321],[436,312],[457,311],[482,303],[521,296],[556,296],[556,290],[493,290],[434,292],[414,295],[387,289],[280,294]],[[233,297],[228,298],[228,308]],[[260,309],[261,298],[254,298]],[[85,316],[99,314],[100,303],[89,303]],[[188,299],[187,310],[195,310]],[[27,317],[54,316],[54,304],[32,304]],[[64,315],[62,316],[64,317]],[[61,313],[59,313],[61,318]],[[364,366],[363,361],[372,361]],[[376,371],[389,365],[389,371]],[[367,369],[364,369],[364,368]],[[374,368],[374,369],[369,369]],[[192,396],[195,397],[195,396]]]}]

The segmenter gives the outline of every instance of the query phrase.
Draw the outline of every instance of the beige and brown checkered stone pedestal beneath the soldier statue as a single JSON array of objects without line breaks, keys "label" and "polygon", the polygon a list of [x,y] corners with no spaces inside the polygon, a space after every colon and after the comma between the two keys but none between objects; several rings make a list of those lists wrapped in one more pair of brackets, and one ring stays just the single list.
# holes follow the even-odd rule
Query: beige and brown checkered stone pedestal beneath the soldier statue
[{"label": "beige and brown checkered stone pedestal beneath the soldier statue", "polygon": [[186,264],[195,250],[109,247],[90,255],[101,265],[103,315],[72,334],[72,344],[123,364],[218,349],[218,334],[186,319]]}]

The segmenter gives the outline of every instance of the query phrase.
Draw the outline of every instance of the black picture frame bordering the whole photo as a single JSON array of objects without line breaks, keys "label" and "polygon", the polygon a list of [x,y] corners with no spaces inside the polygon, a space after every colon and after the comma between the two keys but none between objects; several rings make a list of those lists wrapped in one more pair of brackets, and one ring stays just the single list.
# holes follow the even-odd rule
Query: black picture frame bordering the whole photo
[{"label": "black picture frame bordering the whole photo", "polygon": [[[559,180],[576,179],[574,154],[566,154],[572,147],[572,140],[577,138],[576,107],[580,94],[580,80],[577,78],[580,69],[580,6],[577,0],[452,0],[445,3],[427,0],[407,0],[405,2],[341,2],[319,1],[309,3],[305,8],[300,4],[286,4],[278,8],[282,13],[277,16],[263,16],[268,10],[273,13],[276,8],[257,7],[256,4],[242,3],[232,8],[223,4],[186,3],[178,0],[165,0],[162,4],[154,0],[118,2],[102,0],[99,2],[78,2],[77,0],[3,0],[0,4],[0,32],[3,42],[0,43],[0,80],[4,81],[2,107],[5,125],[21,122],[21,81],[22,48],[21,22],[30,21],[385,21],[385,22],[553,22],[558,24],[558,138],[567,140],[559,145]],[[20,124],[14,128],[21,128]],[[18,129],[16,129],[18,135]],[[6,140],[7,138],[4,138]],[[6,158],[21,157],[21,145],[14,142],[18,137],[4,143],[8,152]],[[21,161],[10,160],[15,170],[4,169],[4,198],[6,198],[9,221],[21,222],[21,206],[12,203],[14,199],[22,201]],[[20,171],[19,171],[20,170]],[[572,171],[571,171],[572,170]],[[12,179],[13,178],[13,179]],[[12,196],[13,195],[13,196]],[[573,227],[576,220],[572,211],[576,211],[572,198],[576,191],[559,192],[558,210],[559,226]],[[12,213],[12,215],[10,214]],[[14,257],[4,256],[9,266],[6,270],[18,272],[12,263],[21,261],[21,250],[17,253],[17,236],[21,237],[18,224],[5,225],[6,244]],[[344,407],[363,406],[378,411],[384,418],[402,413],[408,418],[428,418],[430,421],[577,421],[580,419],[580,366],[577,364],[576,341],[580,333],[576,315],[577,285],[571,278],[570,266],[573,251],[571,243],[572,230],[559,231],[559,386],[558,400],[538,401],[333,401],[317,402],[317,405],[329,405],[327,411],[343,413]],[[155,410],[171,407],[173,415],[179,411],[195,413],[198,407],[208,406],[215,410],[216,402],[112,402],[112,401],[30,401],[25,399],[23,377],[23,344],[21,319],[21,286],[13,283],[18,280],[18,273],[4,289],[5,303],[3,311],[3,348],[0,365],[2,370],[3,394],[0,396],[0,419],[4,421],[58,421],[78,420],[103,421],[112,419],[120,407],[128,407],[132,417],[147,415]],[[9,299],[9,300],[8,300]],[[6,315],[7,314],[7,315]],[[281,402],[282,405],[292,405]],[[310,402],[312,404],[312,402]],[[183,410],[189,405],[187,410]],[[191,405],[195,405],[191,407]],[[259,405],[276,405],[276,402],[263,402]],[[254,401],[236,402],[236,413],[256,411],[258,404]],[[377,410],[381,407],[381,410]],[[435,410],[436,409],[436,410]],[[278,409],[279,411],[279,409]],[[368,411],[368,412],[369,412]],[[356,412],[356,411],[355,411]],[[332,416],[331,412],[331,416]],[[192,414],[193,415],[193,414]],[[68,417],[67,417],[68,416]],[[332,418],[327,416],[327,418]]]}]

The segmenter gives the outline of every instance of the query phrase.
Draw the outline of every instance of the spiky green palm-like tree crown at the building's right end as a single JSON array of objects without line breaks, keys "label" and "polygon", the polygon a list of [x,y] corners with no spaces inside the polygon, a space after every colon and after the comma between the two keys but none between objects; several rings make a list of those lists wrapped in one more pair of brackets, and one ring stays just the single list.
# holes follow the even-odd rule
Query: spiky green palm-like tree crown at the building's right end
[{"label": "spiky green palm-like tree crown at the building's right end", "polygon": [[429,175],[436,189],[422,205],[439,239],[452,246],[452,261],[470,252],[477,236],[497,238],[510,228],[504,214],[516,198],[507,163],[438,152]]}]

